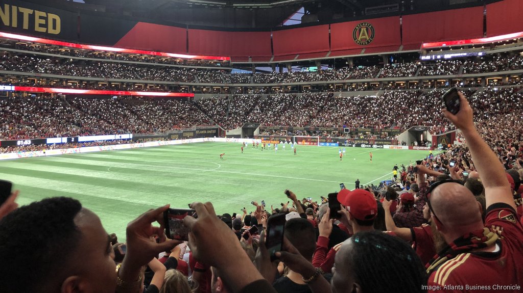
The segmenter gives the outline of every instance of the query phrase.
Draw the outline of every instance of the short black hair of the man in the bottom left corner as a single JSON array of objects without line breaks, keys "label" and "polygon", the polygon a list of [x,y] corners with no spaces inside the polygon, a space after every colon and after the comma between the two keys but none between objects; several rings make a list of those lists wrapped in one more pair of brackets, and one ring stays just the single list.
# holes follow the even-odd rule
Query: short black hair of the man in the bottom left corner
[{"label": "short black hair of the man in the bottom left corner", "polygon": [[74,223],[80,210],[75,199],[48,198],[0,221],[0,292],[39,291],[64,268],[82,235]]}]

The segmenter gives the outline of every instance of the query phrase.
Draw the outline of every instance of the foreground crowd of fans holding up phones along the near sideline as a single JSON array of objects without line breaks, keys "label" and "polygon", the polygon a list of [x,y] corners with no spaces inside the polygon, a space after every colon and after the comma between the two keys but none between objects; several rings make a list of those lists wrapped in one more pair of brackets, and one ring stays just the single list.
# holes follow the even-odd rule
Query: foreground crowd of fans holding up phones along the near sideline
[{"label": "foreground crowd of fans holding up phones along the near sideline", "polygon": [[[329,194],[337,199],[336,211],[326,198],[300,200],[302,194],[291,190],[282,191],[279,204],[252,201],[240,213],[191,203],[198,216],[183,219],[187,240],[165,237],[162,213],[168,205],[130,222],[121,243],[75,199],[18,208],[14,191],[0,206],[0,290],[439,293],[475,286],[520,292],[521,136],[507,132],[492,152],[464,97],[457,115],[443,115],[462,130],[465,144],[416,164],[396,164],[390,185],[361,186],[356,179],[355,189]],[[495,136],[487,138],[491,142],[498,137],[487,135]],[[160,227],[151,225],[156,221]],[[276,241],[277,221],[282,227]],[[29,262],[39,274],[19,282]]]}]

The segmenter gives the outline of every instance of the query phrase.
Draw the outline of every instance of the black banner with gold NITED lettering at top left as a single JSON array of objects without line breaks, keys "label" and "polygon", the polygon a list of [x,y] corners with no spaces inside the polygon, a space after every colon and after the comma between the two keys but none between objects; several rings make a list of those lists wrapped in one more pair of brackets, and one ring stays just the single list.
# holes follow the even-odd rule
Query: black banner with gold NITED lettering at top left
[{"label": "black banner with gold NITED lettering at top left", "polygon": [[0,30],[51,39],[78,38],[77,13],[17,0],[0,4]]}]

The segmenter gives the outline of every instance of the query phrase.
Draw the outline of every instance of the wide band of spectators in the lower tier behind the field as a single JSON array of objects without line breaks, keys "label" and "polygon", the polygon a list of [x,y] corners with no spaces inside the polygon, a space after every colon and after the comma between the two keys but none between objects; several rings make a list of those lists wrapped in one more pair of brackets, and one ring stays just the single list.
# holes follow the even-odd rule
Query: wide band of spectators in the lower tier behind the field
[{"label": "wide band of spectators in the lower tier behind the field", "polygon": [[[492,123],[500,115],[517,115],[519,87],[463,90],[481,113],[476,123]],[[290,127],[401,128],[431,127],[431,133],[452,130],[437,115],[446,90],[386,91],[379,96],[342,97],[334,93],[229,95],[186,101],[179,99],[87,99],[11,97],[0,100],[2,139],[29,139],[114,133],[165,132],[194,125],[218,124],[225,129],[244,123]],[[419,101],[425,101],[419,103]],[[396,115],[389,115],[396,113]],[[504,132],[495,126],[491,131]],[[492,133],[491,133],[492,134]],[[334,136],[336,133],[328,133]],[[368,136],[366,136],[368,137]],[[384,135],[377,138],[393,138]]]}]

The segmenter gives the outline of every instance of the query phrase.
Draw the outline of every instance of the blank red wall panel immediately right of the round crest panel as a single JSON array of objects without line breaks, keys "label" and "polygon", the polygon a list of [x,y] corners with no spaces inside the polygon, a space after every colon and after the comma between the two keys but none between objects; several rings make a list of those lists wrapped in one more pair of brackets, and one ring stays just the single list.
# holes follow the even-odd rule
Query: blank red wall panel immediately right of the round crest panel
[{"label": "blank red wall panel immediately right of the round crest panel", "polygon": [[403,16],[403,44],[482,38],[483,6]]}]

